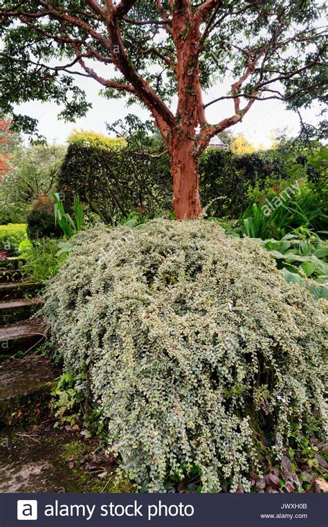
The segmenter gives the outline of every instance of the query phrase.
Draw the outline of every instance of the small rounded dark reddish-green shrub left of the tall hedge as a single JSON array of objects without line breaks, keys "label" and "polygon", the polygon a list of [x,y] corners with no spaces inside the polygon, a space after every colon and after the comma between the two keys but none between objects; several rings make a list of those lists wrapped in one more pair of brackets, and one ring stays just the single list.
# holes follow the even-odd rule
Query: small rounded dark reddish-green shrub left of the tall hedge
[{"label": "small rounded dark reddish-green shrub left of the tall hedge", "polygon": [[55,225],[54,202],[44,194],[35,201],[26,220],[30,241],[59,237],[62,234],[59,227]]}]

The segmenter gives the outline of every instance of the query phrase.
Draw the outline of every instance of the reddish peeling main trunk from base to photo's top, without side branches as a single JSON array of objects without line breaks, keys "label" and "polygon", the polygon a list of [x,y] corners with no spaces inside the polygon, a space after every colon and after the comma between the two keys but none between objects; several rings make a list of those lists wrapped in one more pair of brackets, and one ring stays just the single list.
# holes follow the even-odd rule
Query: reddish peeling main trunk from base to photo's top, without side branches
[{"label": "reddish peeling main trunk from base to photo's top, without side branches", "polygon": [[189,1],[176,1],[172,15],[178,85],[178,119],[169,141],[173,206],[176,219],[194,220],[201,214],[195,131],[206,121],[199,82],[200,21],[193,21]]}]

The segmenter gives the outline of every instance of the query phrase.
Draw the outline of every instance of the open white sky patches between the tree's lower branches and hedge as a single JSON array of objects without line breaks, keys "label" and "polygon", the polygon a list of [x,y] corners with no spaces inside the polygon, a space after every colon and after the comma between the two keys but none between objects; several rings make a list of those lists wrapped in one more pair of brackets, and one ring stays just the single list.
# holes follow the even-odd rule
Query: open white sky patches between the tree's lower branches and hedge
[{"label": "open white sky patches between the tree's lower branches and hedge", "polygon": [[[94,63],[93,63],[94,64]],[[93,66],[95,67],[95,66]],[[104,64],[98,64],[95,68],[102,75],[110,78],[110,71],[104,69]],[[64,143],[73,128],[84,130],[93,130],[95,132],[107,133],[106,122],[113,123],[122,119],[126,114],[137,114],[141,119],[149,119],[150,114],[138,105],[125,107],[124,99],[109,101],[98,95],[101,86],[91,78],[76,77],[76,83],[82,87],[88,101],[92,103],[92,108],[84,119],[78,119],[76,123],[64,123],[57,120],[57,114],[60,107],[54,103],[25,103],[19,107],[19,110],[39,121],[39,132],[46,137],[49,142]],[[229,89],[230,81],[224,85],[212,87],[210,92],[204,95],[204,103],[211,101],[222,95],[226,95]],[[174,101],[175,102],[175,101]],[[172,110],[175,113],[175,105],[172,103]],[[233,101],[220,101],[208,107],[206,115],[210,123],[217,123],[227,116],[233,115]],[[305,121],[316,123],[316,114],[318,109],[313,107],[312,110],[302,111]],[[255,146],[264,144],[270,146],[270,136],[273,130],[288,126],[291,133],[295,135],[299,128],[298,115],[294,112],[287,111],[281,101],[275,99],[270,101],[255,101],[253,107],[246,116],[244,121],[230,128],[234,134],[243,133],[245,137],[252,141]]]}]

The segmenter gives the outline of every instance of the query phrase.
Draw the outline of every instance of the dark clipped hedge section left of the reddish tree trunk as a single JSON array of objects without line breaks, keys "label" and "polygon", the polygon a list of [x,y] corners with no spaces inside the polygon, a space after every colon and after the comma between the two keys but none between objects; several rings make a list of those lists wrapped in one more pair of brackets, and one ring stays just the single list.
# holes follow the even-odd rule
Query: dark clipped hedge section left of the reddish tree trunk
[{"label": "dark clipped hedge section left of the reddish tree trunk", "polygon": [[129,150],[69,145],[58,191],[65,205],[78,194],[105,223],[116,223],[135,211],[154,214],[170,209],[172,183],[167,162]]}]

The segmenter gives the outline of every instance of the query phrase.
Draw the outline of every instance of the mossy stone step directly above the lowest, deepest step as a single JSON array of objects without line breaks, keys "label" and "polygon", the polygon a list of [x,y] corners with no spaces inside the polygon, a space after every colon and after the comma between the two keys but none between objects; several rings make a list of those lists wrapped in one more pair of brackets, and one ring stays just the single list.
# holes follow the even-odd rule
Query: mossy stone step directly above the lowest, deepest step
[{"label": "mossy stone step directly above the lowest, deepest step", "polygon": [[0,356],[28,352],[42,345],[47,329],[42,318],[33,318],[0,327]]}]

